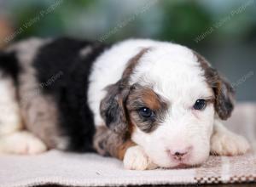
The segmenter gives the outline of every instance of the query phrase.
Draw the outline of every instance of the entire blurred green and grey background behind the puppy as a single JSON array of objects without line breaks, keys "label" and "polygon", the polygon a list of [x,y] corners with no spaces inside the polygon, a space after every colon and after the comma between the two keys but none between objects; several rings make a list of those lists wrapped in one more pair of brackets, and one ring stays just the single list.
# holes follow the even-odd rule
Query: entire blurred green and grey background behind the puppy
[{"label": "entire blurred green and grey background behind the puppy", "polygon": [[178,42],[256,101],[256,0],[0,0],[0,46],[32,36]]}]

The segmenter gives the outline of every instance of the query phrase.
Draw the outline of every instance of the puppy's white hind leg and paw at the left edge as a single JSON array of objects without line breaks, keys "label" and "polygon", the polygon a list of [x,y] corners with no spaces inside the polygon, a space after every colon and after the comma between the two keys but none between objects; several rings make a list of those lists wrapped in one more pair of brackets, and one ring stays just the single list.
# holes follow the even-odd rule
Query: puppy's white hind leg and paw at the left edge
[{"label": "puppy's white hind leg and paw at the left edge", "polygon": [[13,80],[0,76],[0,154],[34,154],[46,150],[31,133],[21,132],[20,108]]}]

